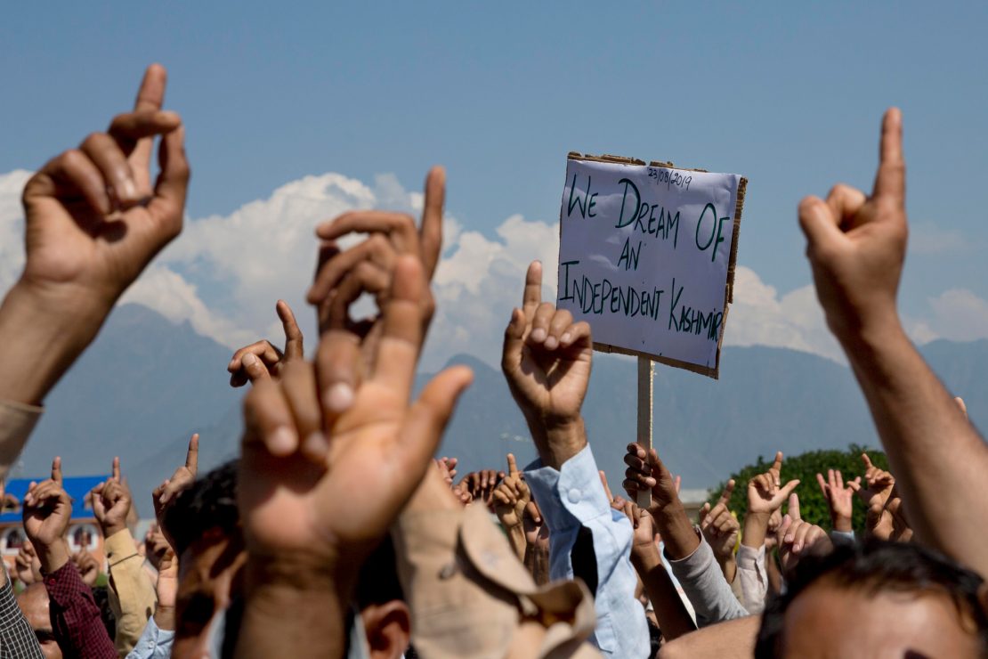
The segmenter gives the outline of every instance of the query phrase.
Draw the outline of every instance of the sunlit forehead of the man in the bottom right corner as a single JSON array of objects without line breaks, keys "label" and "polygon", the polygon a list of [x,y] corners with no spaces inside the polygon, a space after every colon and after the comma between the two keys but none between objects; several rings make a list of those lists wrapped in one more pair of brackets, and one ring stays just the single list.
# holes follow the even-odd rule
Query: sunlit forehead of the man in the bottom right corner
[{"label": "sunlit forehead of the man in the bottom right corner", "polygon": [[789,605],[783,657],[977,657],[977,628],[938,592],[870,595],[817,583]]}]

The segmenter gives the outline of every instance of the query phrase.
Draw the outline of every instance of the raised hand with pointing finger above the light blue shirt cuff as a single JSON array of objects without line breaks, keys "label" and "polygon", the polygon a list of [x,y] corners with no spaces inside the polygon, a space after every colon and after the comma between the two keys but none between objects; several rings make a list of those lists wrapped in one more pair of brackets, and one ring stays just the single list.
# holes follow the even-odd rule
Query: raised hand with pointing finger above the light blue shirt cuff
[{"label": "raised hand with pointing finger above the light blue shirt cuff", "polygon": [[[593,352],[590,325],[574,323],[569,311],[542,301],[542,264],[533,262],[526,275],[523,306],[512,311],[505,330],[501,370],[540,454],[557,434],[583,437],[582,430],[559,430],[582,428],[580,408],[587,395]],[[582,445],[569,447],[567,453],[580,449]]]}]

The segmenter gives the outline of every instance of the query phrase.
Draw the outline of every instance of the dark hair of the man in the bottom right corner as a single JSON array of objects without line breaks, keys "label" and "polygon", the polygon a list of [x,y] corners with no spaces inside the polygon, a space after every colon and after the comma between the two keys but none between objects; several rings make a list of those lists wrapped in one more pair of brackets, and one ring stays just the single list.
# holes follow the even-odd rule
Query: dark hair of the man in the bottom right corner
[{"label": "dark hair of the man in the bottom right corner", "polygon": [[841,543],[825,556],[807,556],[796,565],[784,595],[771,600],[762,617],[755,656],[782,655],[785,612],[818,581],[874,597],[881,593],[942,593],[960,616],[977,625],[982,653],[988,651],[988,617],[978,600],[981,577],[943,554],[911,542],[869,540]]}]

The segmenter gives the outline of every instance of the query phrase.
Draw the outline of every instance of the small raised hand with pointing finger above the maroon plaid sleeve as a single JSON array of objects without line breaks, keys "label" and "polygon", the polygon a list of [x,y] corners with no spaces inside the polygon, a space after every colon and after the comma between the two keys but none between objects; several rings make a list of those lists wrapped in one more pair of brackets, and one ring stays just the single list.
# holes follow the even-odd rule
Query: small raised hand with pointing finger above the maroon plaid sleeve
[{"label": "small raised hand with pointing finger above the maroon plaid sleeve", "polygon": [[51,478],[32,482],[24,495],[24,533],[34,544],[44,572],[53,572],[68,559],[65,534],[72,519],[72,499],[62,488],[61,457],[51,461]]}]

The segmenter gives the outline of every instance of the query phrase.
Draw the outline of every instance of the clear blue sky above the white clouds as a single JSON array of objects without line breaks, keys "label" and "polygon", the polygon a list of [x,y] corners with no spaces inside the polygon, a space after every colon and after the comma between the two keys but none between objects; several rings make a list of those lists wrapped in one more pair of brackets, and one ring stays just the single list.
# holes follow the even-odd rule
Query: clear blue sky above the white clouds
[{"label": "clear blue sky above the white clouds", "polygon": [[[458,225],[496,239],[516,213],[557,220],[569,150],[668,159],[749,178],[739,262],[782,297],[810,283],[798,200],[868,189],[898,105],[916,236],[903,309],[930,336],[980,336],[949,325],[988,310],[988,4],[327,4],[6,7],[0,174],[105,126],[160,61],[192,218],[327,172],[414,191],[442,163]],[[203,270],[174,270],[221,306]]]}]

